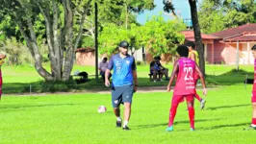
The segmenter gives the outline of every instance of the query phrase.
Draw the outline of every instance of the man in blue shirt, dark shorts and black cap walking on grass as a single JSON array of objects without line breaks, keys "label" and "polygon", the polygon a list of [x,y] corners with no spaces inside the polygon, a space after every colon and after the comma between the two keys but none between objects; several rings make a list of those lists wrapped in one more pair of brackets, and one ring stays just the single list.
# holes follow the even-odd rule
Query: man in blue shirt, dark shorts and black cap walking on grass
[{"label": "man in blue shirt, dark shorts and black cap walking on grass", "polygon": [[113,69],[112,82],[112,105],[116,116],[116,127],[121,127],[122,120],[120,117],[120,104],[124,104],[124,123],[123,130],[130,130],[128,122],[131,115],[131,105],[133,93],[137,91],[138,81],[136,64],[134,57],[128,54],[129,43],[121,41],[119,43],[119,53],[114,55],[110,62],[108,69],[105,72],[105,84],[110,85],[109,78],[110,71]]}]

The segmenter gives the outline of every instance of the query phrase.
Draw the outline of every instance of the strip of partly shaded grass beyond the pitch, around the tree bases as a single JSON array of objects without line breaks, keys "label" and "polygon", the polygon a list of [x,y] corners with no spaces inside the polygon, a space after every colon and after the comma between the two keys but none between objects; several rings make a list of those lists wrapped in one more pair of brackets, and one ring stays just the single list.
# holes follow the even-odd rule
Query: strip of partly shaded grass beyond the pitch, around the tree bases
[{"label": "strip of partly shaded grass beyond the pitch, around the tree bases", "polygon": [[[172,70],[172,65],[165,65],[169,69],[169,74]],[[46,69],[49,69],[49,64],[44,64]],[[220,85],[232,85],[232,84],[242,84],[247,74],[249,78],[253,78],[253,66],[242,65],[240,71],[234,70],[234,65],[206,65],[206,82],[208,86],[220,86]],[[152,83],[149,82],[148,78],[148,65],[138,65],[138,77],[140,86],[163,86],[167,85],[167,82]],[[74,65],[73,71],[87,71],[90,75],[95,74],[94,66],[79,66]],[[90,82],[86,84],[77,84],[75,89],[73,87],[66,87],[63,84],[52,85],[42,85],[43,79],[38,75],[35,68],[31,65],[21,65],[21,66],[2,66],[3,71],[3,90],[6,94],[12,93],[28,93],[32,92],[47,92],[46,87],[55,87],[55,91],[84,91],[92,90],[97,91],[98,89],[105,89],[101,78],[99,82],[96,82],[94,77],[90,77]],[[48,88],[49,89],[49,88]]]}]

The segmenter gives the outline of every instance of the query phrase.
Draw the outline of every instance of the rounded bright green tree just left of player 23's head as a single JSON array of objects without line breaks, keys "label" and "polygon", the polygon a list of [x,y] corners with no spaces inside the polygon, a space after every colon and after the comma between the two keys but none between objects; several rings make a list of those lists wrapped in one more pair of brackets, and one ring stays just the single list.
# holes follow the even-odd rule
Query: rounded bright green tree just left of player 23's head
[{"label": "rounded bright green tree just left of player 23's head", "polygon": [[165,21],[161,15],[154,16],[143,26],[142,43],[154,56],[174,54],[176,46],[185,40],[180,33],[185,29],[186,26],[179,20]]}]

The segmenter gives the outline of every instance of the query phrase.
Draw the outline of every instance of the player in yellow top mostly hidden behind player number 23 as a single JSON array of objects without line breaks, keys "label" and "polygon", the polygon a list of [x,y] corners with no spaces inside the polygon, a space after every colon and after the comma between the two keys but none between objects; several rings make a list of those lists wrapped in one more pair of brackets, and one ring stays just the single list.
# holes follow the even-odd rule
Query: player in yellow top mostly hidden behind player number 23
[{"label": "player in yellow top mostly hidden behind player number 23", "polygon": [[[197,53],[197,51],[194,50],[194,42],[189,41],[185,44],[188,48],[189,48],[189,59],[195,61],[195,63],[197,64],[197,66],[199,65],[199,55]],[[194,79],[195,79],[195,86],[197,84],[197,81],[199,79],[198,74],[194,75]],[[197,93],[195,93],[194,97],[200,102],[200,108],[203,109],[205,107],[205,103],[206,101],[204,99],[202,99]]]}]

